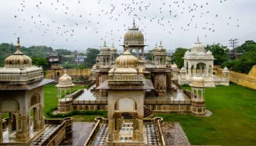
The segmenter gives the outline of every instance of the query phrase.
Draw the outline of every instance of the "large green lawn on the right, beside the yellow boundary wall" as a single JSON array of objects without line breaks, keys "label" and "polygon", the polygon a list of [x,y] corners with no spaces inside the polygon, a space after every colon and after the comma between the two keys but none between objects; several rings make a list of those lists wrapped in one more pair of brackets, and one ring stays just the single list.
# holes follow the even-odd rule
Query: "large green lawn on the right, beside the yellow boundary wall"
[{"label": "large green lawn on the right, beside the yellow boundary wall", "polygon": [[256,91],[234,84],[207,88],[205,106],[211,117],[156,115],[179,121],[192,145],[256,145]]}]

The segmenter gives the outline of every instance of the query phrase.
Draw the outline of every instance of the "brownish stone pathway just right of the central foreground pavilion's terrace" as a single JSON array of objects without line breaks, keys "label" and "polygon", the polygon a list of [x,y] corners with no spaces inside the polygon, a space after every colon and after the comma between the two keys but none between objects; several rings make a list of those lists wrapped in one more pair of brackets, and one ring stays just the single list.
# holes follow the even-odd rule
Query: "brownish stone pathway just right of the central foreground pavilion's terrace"
[{"label": "brownish stone pathway just right of the central foreground pavilion's terrace", "polygon": [[163,122],[162,130],[166,145],[190,145],[179,122]]}]

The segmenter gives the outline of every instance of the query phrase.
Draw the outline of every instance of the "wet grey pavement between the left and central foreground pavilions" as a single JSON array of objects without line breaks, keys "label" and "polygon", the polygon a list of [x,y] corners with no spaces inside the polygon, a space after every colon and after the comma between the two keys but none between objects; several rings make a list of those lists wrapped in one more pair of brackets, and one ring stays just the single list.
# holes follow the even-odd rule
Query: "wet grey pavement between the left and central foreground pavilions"
[{"label": "wet grey pavement between the left and central foreground pavilions", "polygon": [[73,122],[72,137],[66,138],[60,145],[81,146],[92,132],[94,122]]}]

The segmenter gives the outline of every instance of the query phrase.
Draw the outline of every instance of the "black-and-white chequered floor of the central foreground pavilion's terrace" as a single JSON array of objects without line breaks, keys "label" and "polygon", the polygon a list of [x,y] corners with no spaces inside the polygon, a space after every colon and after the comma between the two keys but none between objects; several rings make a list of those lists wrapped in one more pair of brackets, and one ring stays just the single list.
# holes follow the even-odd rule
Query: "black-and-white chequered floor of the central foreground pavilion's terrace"
[{"label": "black-and-white chequered floor of the central foreground pavilion's terrace", "polygon": [[[132,130],[132,123],[123,124],[122,128],[120,129],[120,142],[132,141]],[[101,124],[93,145],[105,145],[107,136],[108,124]],[[160,145],[156,124],[144,124],[144,142],[146,145]]]}]

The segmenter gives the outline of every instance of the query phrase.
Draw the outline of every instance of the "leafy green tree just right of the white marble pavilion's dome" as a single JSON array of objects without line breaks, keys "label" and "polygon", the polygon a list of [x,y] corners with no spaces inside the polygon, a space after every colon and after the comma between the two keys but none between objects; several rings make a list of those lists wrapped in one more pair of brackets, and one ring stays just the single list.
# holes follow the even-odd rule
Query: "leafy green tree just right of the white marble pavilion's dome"
[{"label": "leafy green tree just right of the white marble pavilion's dome", "polygon": [[214,60],[215,65],[221,65],[223,62],[228,61],[229,59],[228,48],[223,45],[220,45],[220,43],[214,45],[207,45],[205,47],[205,51],[208,50],[212,52],[212,55],[214,55],[214,58],[216,59]]}]

